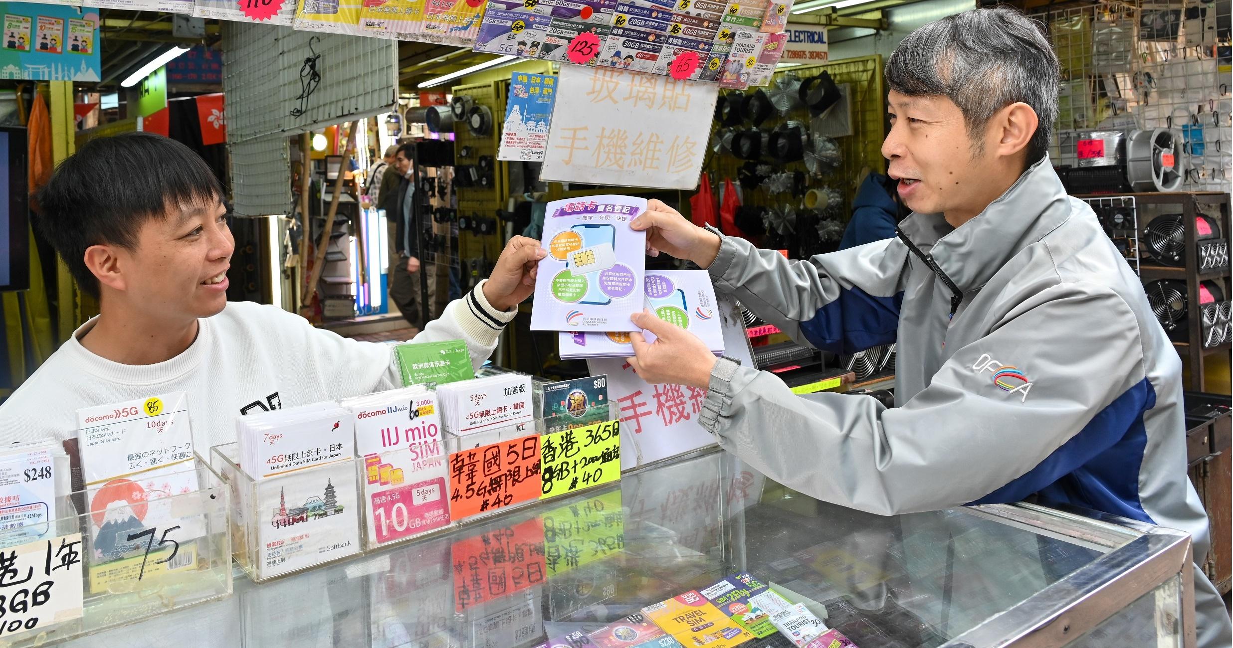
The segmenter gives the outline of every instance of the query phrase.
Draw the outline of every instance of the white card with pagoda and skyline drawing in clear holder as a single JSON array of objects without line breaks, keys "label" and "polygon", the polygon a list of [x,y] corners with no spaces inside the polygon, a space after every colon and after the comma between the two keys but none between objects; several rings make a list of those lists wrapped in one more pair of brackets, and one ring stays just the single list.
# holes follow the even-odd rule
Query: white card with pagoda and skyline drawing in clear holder
[{"label": "white card with pagoda and skyline drawing in clear holder", "polygon": [[256,483],[258,569],[286,574],[360,551],[355,466],[300,471]]}]

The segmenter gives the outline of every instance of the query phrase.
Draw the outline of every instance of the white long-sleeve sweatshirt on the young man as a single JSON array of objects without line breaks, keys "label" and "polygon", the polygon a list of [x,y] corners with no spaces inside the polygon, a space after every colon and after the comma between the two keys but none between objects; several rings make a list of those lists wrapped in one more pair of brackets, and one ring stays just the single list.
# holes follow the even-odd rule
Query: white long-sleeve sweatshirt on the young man
[{"label": "white long-sleeve sweatshirt on the young man", "polygon": [[[517,312],[493,308],[482,287],[450,302],[412,341],[465,340],[478,368]],[[393,346],[342,338],[274,306],[228,302],[199,323],[196,340],[180,355],[155,365],[121,365],[78,341],[95,324],[86,322],[0,404],[0,443],[75,436],[78,408],[182,391],[194,446],[208,458],[211,446],[236,440],[240,414],[402,384]]]}]

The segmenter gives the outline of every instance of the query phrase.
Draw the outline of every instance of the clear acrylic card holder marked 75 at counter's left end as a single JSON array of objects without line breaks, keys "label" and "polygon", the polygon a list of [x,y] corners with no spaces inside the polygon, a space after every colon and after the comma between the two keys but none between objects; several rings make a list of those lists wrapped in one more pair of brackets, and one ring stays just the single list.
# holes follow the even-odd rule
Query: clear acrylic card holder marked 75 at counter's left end
[{"label": "clear acrylic card holder marked 75 at counter's left end", "polygon": [[200,457],[184,466],[197,490],[168,494],[117,478],[59,498],[54,520],[0,530],[5,553],[80,533],[79,545],[55,547],[55,559],[80,559],[83,575],[81,617],[5,632],[0,644],[59,642],[229,595],[227,487]]}]

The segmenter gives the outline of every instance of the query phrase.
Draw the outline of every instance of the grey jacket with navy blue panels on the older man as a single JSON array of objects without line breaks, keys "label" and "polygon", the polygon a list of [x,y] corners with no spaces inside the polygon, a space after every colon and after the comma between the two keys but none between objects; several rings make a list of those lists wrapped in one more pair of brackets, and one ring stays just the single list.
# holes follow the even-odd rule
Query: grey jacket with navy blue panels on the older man
[{"label": "grey jacket with navy blue panels on the older man", "polygon": [[[720,446],[864,511],[1036,495],[1184,530],[1201,562],[1210,537],[1186,476],[1181,361],[1048,158],[959,228],[915,213],[900,229],[809,261],[723,239],[716,288],[798,342],[899,346],[893,409],[716,370],[703,426]],[[1198,646],[1228,647],[1229,617],[1197,568],[1195,588]]]}]

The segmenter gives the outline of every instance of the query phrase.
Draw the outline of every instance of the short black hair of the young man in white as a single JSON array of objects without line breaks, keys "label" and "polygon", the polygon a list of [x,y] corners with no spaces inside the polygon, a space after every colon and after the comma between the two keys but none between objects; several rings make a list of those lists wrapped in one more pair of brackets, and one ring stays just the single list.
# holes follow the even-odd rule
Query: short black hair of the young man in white
[{"label": "short black hair of the young man in white", "polygon": [[169,207],[224,200],[218,177],[189,147],[154,133],[122,133],[86,142],[57,166],[35,195],[35,225],[81,290],[99,297],[86,248],[136,249],[142,225],[165,218]]}]

